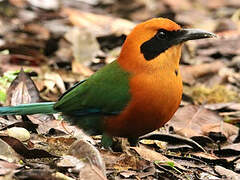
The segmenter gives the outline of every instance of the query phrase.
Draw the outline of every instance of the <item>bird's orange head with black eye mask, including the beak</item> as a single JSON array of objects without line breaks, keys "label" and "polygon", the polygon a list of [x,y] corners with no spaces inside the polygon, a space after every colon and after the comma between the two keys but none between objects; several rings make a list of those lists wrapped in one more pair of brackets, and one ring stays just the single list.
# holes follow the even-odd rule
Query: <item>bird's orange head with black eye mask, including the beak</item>
[{"label": "bird's orange head with black eye mask, including the beak", "polygon": [[178,64],[184,42],[214,36],[199,29],[182,29],[166,18],[153,18],[138,24],[127,36],[119,60],[133,66],[130,69]]}]

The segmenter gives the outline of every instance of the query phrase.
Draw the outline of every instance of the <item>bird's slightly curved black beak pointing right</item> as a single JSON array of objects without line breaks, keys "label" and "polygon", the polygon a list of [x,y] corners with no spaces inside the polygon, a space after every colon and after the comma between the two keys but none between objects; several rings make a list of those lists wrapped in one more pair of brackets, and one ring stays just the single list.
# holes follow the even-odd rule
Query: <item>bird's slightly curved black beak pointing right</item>
[{"label": "bird's slightly curved black beak pointing right", "polygon": [[188,40],[205,39],[217,37],[216,34],[201,29],[181,29],[179,30],[178,43]]}]

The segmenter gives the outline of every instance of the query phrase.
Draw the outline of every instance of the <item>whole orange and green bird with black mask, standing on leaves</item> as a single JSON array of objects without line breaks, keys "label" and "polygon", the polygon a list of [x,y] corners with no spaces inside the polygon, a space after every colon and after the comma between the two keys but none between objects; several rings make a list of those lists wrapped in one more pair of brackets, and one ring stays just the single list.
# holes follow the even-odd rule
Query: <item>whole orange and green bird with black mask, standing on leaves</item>
[{"label": "whole orange and green bird with black mask, standing on leaves", "polygon": [[0,107],[0,116],[61,113],[89,135],[102,135],[104,147],[112,145],[113,137],[136,144],[140,136],[168,122],[180,105],[184,42],[215,36],[181,28],[167,18],[152,18],[133,28],[115,61],[68,89],[56,102]]}]

